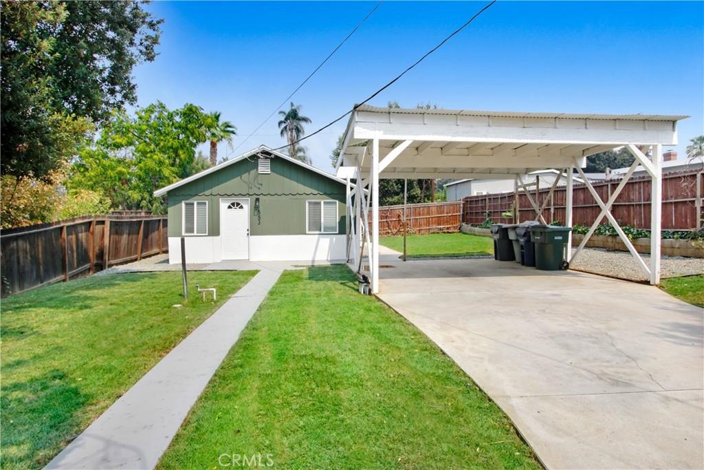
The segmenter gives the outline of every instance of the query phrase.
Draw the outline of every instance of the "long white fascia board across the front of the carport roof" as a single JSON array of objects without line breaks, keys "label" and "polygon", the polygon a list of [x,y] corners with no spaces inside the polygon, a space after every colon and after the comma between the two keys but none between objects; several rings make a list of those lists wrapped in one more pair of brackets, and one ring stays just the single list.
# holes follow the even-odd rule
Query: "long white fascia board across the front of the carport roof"
[{"label": "long white fascia board across the front of the carport roof", "polygon": [[355,138],[436,142],[515,142],[517,144],[677,144],[677,130],[518,128],[499,125],[431,125],[358,122]]}]

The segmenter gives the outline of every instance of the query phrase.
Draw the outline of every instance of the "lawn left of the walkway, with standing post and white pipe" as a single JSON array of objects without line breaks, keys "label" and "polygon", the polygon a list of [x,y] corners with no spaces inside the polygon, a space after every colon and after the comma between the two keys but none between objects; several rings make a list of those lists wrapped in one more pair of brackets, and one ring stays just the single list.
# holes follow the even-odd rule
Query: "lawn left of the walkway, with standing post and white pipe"
[{"label": "lawn left of the walkway, with standing post and white pipe", "polygon": [[[2,300],[1,464],[39,468],[239,290],[253,271],[92,276]],[[196,283],[218,289],[203,302]]]}]

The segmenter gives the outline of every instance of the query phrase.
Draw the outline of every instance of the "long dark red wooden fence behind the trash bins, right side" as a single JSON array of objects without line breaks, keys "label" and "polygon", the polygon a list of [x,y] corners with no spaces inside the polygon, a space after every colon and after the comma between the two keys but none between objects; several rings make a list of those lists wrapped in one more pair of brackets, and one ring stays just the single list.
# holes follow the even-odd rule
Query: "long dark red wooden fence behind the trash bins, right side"
[{"label": "long dark red wooden fence behind the trash bins, right side", "polygon": [[[620,183],[619,179],[592,183],[594,190],[605,202]],[[532,189],[533,199],[542,206],[548,197],[549,187]],[[546,204],[543,217],[551,221],[565,222],[566,188],[556,187]],[[536,198],[537,193],[537,198]],[[699,230],[702,228],[702,196],[704,178],[702,171],[682,171],[662,175],[662,230]],[[513,192],[484,194],[463,199],[463,222],[482,223],[487,215],[492,221],[510,223],[510,218],[501,214],[510,210]],[[520,221],[536,218],[535,210],[527,196],[519,192],[518,208]],[[611,212],[617,221],[636,228],[650,230],[650,176],[631,178],[614,202]],[[601,208],[585,185],[575,184],[572,192],[572,222],[591,225],[601,213]]]}]

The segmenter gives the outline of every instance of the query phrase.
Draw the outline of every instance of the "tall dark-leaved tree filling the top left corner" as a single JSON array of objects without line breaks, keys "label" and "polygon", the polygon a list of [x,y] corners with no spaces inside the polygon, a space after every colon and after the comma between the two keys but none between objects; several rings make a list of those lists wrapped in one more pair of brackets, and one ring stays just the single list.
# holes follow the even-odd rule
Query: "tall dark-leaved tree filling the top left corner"
[{"label": "tall dark-leaved tree filling the top left corner", "polygon": [[153,60],[158,25],[136,1],[15,1],[0,15],[0,171],[46,183],[91,120],[134,103],[132,67]]}]

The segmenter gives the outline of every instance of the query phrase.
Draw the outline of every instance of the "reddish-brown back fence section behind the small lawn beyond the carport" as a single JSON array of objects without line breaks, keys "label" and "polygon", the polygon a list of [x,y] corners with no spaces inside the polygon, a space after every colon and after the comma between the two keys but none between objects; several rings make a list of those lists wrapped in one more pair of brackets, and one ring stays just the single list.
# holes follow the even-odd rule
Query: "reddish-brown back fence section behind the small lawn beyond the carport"
[{"label": "reddish-brown back fence section behind the small lawn beyond the carport", "polygon": [[[408,233],[456,232],[460,228],[461,206],[460,201],[408,204]],[[370,226],[372,217],[369,211]],[[403,205],[379,207],[379,235],[403,235]]]}]

